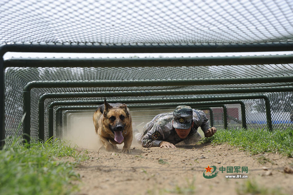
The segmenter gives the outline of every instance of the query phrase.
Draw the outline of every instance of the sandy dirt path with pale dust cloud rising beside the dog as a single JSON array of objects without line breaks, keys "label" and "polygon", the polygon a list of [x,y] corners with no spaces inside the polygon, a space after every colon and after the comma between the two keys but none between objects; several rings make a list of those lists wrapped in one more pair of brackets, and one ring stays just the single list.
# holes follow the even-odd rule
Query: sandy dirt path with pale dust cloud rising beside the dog
[{"label": "sandy dirt path with pale dust cloud rising beside the dog", "polygon": [[[293,174],[284,173],[293,159],[280,154],[248,152],[228,144],[177,145],[177,148],[143,148],[133,142],[132,154],[99,150],[98,137],[90,116],[72,118],[67,140],[77,144],[90,157],[76,168],[81,181],[79,195],[91,194],[237,194],[248,180],[269,191],[293,192]],[[122,148],[123,143],[120,145]],[[263,160],[268,162],[263,163]],[[247,167],[248,172],[219,171],[212,179],[203,173],[207,167]],[[264,170],[267,169],[267,170]],[[213,172],[213,169],[211,170]],[[234,171],[234,168],[233,168]],[[271,174],[270,174],[271,173]],[[248,178],[225,178],[225,175]],[[205,175],[211,175],[205,173]],[[275,194],[275,193],[273,193]]]}]

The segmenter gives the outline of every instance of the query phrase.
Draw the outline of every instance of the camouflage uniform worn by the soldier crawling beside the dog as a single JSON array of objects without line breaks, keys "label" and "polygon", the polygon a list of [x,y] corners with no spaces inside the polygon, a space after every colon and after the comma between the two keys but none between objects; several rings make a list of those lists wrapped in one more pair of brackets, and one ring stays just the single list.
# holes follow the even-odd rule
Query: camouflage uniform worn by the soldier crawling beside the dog
[{"label": "camouflage uniform worn by the soldier crawling beside the dog", "polygon": [[172,125],[173,112],[158,114],[151,122],[146,123],[143,127],[143,133],[137,133],[135,137],[141,142],[142,147],[159,147],[162,141],[172,144],[181,141],[185,141],[185,143],[188,143],[188,141],[196,143],[201,139],[197,128],[201,127],[203,132],[208,131],[208,119],[202,110],[192,109],[192,114],[194,125],[185,139],[181,139],[177,135]]}]

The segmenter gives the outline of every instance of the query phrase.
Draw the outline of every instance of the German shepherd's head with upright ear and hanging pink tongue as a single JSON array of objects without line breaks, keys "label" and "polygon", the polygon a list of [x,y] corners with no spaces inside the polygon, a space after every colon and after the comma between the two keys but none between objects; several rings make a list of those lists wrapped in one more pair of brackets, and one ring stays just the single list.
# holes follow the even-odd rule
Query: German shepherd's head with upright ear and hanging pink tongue
[{"label": "German shepherd's head with upright ear and hanging pink tongue", "polygon": [[103,123],[114,134],[114,140],[122,143],[122,132],[130,126],[131,119],[126,104],[117,104],[113,107],[104,100]]}]

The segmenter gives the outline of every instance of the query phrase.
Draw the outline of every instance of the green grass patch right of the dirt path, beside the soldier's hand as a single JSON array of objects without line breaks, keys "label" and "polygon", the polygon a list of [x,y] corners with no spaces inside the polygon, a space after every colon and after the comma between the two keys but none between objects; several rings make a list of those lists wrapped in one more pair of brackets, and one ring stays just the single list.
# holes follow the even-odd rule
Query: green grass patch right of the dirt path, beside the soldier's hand
[{"label": "green grass patch right of the dirt path, beside the soldier's hand", "polygon": [[203,138],[203,142],[229,143],[241,147],[245,151],[250,151],[253,155],[261,152],[278,152],[293,157],[292,127],[273,131],[265,129],[218,130],[212,137]]}]

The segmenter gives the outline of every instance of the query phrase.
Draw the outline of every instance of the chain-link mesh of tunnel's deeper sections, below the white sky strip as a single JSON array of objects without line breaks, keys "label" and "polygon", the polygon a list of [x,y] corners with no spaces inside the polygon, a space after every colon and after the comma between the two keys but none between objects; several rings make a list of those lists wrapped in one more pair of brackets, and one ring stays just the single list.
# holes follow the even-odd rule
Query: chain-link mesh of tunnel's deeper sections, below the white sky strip
[{"label": "chain-link mesh of tunnel's deeper sections, below the white sky strip", "polygon": [[[5,70],[5,124],[6,135],[13,135],[23,113],[23,89],[30,81],[60,81],[60,80],[130,80],[130,79],[181,79],[181,78],[239,78],[261,76],[293,75],[293,64],[259,64],[259,65],[231,65],[231,66],[199,66],[199,67],[138,67],[138,68],[6,68]],[[150,87],[79,87],[79,88],[33,88],[31,90],[31,136],[38,137],[38,101],[45,93],[86,93],[105,91],[144,91],[144,90],[180,90],[180,89],[229,89],[229,88],[257,88],[292,86],[289,83],[264,84],[232,84],[232,85],[190,85],[190,86],[150,86]],[[275,128],[288,127],[292,124],[293,97],[292,92],[262,93],[270,99],[272,121]],[[247,94],[201,94],[201,95],[165,95],[165,96],[130,96],[108,97],[108,100],[144,99],[144,98],[194,98],[233,96]],[[102,100],[103,98],[51,98],[46,99],[44,106],[45,130],[48,132],[48,105],[53,101],[62,100]],[[266,113],[264,100],[243,100],[246,105],[247,127],[266,127]],[[143,104],[141,104],[143,105]],[[228,128],[241,127],[240,105],[227,105]],[[214,124],[223,124],[223,110],[213,109]],[[20,132],[21,134],[21,132]],[[46,136],[47,137],[47,136]]]}]

